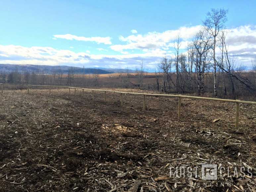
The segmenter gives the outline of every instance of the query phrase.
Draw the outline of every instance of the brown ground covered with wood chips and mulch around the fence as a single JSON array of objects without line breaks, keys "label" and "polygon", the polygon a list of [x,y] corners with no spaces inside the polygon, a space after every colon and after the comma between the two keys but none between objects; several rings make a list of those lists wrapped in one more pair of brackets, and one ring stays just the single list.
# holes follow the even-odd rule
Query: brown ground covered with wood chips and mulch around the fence
[{"label": "brown ground covered with wood chips and mulch around the fence", "polygon": [[[123,107],[116,93],[106,103],[101,92],[94,101],[91,92],[84,96],[67,89],[0,95],[1,192],[113,192],[135,184],[141,192],[255,191],[256,106],[240,104],[235,129],[233,103],[182,99],[179,120],[175,98],[146,97],[143,112],[141,96],[125,95]],[[252,176],[246,169],[204,182],[202,164],[250,168]],[[181,166],[199,167],[199,176],[170,177],[170,167]]]}]

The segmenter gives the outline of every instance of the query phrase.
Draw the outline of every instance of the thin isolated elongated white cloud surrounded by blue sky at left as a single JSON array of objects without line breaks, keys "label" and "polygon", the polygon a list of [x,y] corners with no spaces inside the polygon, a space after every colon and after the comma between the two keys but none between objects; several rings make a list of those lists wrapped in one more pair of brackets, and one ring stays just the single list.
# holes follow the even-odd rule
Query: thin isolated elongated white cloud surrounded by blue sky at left
[{"label": "thin isolated elongated white cloud surrounded by blue sky at left", "polygon": [[92,41],[96,43],[104,43],[106,45],[111,45],[111,38],[110,37],[82,37],[76,36],[72,34],[65,34],[65,35],[53,35],[54,38],[60,39],[67,39],[67,40],[77,40],[77,41]]}]

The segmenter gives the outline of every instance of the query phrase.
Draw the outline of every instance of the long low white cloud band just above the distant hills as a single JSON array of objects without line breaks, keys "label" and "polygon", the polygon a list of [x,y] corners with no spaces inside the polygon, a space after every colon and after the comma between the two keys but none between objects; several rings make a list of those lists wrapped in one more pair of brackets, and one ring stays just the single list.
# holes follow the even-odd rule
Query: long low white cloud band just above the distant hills
[{"label": "long low white cloud band just above the distant hills", "polygon": [[[75,53],[70,50],[57,50],[52,47],[23,47],[17,45],[0,45],[0,63],[2,64],[33,64],[33,65],[69,65],[112,68],[135,68],[141,60],[147,64],[156,63],[166,51],[152,50],[142,54],[106,55]],[[155,65],[156,66],[156,65]]]}]

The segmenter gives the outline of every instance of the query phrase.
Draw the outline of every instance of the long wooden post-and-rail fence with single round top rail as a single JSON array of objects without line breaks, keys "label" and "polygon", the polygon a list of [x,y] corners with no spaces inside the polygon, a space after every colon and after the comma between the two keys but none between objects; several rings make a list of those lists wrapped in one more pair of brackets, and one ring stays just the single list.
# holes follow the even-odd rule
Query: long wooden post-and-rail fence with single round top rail
[{"label": "long wooden post-and-rail fence with single round top rail", "polygon": [[48,85],[27,85],[27,93],[29,93],[29,87],[32,86],[40,86],[40,87],[49,87],[49,93],[51,93],[50,87],[67,87],[70,89],[82,89],[82,94],[84,97],[84,90],[92,91],[92,99],[94,100],[94,91],[101,91],[104,92],[104,99],[106,102],[106,93],[120,93],[121,96],[121,106],[123,106],[123,94],[130,94],[130,95],[143,95],[143,110],[146,109],[146,96],[161,96],[161,97],[178,97],[178,117],[180,118],[180,109],[181,109],[181,98],[190,98],[190,99],[201,99],[201,100],[210,100],[210,101],[222,101],[222,102],[231,102],[235,103],[235,128],[238,128],[239,124],[239,104],[253,104],[256,105],[254,101],[241,101],[241,100],[232,100],[232,99],[218,99],[218,98],[210,98],[210,97],[196,97],[196,96],[188,96],[188,95],[169,95],[169,94],[150,94],[150,93],[130,93],[130,92],[121,92],[121,91],[111,91],[111,90],[102,90],[102,89],[87,89],[87,88],[80,88],[80,87],[69,87],[69,86],[48,86]]}]

